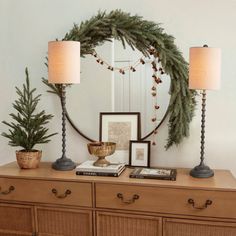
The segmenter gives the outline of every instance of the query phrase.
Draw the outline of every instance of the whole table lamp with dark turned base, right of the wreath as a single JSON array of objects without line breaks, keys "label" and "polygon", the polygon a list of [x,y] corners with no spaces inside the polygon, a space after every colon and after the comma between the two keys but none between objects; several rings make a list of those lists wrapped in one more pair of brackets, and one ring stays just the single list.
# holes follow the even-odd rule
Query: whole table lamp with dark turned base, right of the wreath
[{"label": "whole table lamp with dark turned base, right of the wreath", "polygon": [[209,178],[214,175],[214,171],[204,164],[206,90],[219,89],[220,74],[221,50],[219,48],[210,48],[207,45],[190,48],[189,88],[202,91],[201,162],[190,171],[190,175],[195,178]]}]

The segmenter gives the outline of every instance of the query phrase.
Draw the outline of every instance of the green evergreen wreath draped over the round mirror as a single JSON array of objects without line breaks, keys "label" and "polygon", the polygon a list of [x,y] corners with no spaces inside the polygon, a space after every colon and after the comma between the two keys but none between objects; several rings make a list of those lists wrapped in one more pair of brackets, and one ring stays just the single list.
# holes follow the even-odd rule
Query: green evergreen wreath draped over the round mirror
[{"label": "green evergreen wreath draped over the round mirror", "polygon": [[[112,38],[120,40],[124,49],[128,44],[144,56],[149,57],[152,54],[161,61],[165,73],[171,78],[167,110],[169,136],[166,148],[179,144],[189,135],[196,92],[188,89],[188,63],[175,45],[174,37],[166,34],[160,24],[143,20],[138,15],[132,16],[121,10],[114,10],[110,13],[98,12],[80,25],[74,24],[62,40],[79,41],[81,56],[85,57],[93,54],[97,46],[111,41]],[[60,85],[48,84],[46,79],[43,82],[52,89],[49,92],[61,95]]]}]

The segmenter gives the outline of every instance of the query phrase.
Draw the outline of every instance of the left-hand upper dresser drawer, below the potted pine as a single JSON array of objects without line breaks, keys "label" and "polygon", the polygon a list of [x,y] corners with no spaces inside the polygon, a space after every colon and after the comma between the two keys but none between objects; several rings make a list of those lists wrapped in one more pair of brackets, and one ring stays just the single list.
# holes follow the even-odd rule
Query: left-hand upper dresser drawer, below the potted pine
[{"label": "left-hand upper dresser drawer, below the potted pine", "polygon": [[0,178],[0,199],[92,206],[90,183]]}]

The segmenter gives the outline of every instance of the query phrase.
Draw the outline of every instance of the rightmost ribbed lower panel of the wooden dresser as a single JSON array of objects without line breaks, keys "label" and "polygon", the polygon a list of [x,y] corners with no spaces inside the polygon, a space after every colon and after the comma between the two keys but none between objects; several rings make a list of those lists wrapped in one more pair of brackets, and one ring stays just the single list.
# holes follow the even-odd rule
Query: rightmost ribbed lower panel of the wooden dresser
[{"label": "rightmost ribbed lower panel of the wooden dresser", "polygon": [[236,223],[163,219],[163,236],[235,236]]}]

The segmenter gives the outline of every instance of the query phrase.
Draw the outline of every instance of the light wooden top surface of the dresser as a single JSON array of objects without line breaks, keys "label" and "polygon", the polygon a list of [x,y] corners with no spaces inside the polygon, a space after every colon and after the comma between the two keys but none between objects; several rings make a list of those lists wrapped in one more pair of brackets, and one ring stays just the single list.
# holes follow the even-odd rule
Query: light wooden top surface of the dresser
[{"label": "light wooden top surface of the dresser", "polygon": [[126,168],[119,177],[78,176],[75,170],[53,170],[49,162],[42,162],[38,169],[30,170],[20,169],[16,162],[12,162],[0,167],[0,177],[236,191],[236,179],[228,170],[215,170],[214,177],[198,179],[189,175],[189,169],[177,169],[176,181],[129,178],[131,171],[132,169]]}]

